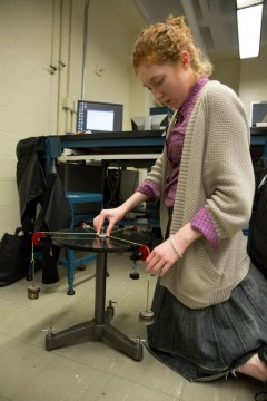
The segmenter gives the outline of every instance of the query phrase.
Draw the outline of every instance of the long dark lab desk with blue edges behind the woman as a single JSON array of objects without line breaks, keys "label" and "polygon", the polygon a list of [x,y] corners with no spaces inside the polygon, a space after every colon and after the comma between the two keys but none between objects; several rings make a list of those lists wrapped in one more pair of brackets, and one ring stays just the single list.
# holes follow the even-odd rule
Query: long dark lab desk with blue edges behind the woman
[{"label": "long dark lab desk with blue edges behind the woman", "polygon": [[[259,157],[266,154],[267,129],[251,128],[251,158],[254,166]],[[98,134],[75,134],[44,137],[50,146],[47,146],[44,158],[47,166],[51,165],[51,158],[59,157],[61,162],[96,162],[110,167],[136,167],[151,168],[155,160],[160,156],[165,144],[164,133],[157,131],[120,131]],[[62,156],[62,149],[73,149],[76,155]],[[62,157],[60,157],[62,156]],[[46,169],[47,174],[48,167]]]}]

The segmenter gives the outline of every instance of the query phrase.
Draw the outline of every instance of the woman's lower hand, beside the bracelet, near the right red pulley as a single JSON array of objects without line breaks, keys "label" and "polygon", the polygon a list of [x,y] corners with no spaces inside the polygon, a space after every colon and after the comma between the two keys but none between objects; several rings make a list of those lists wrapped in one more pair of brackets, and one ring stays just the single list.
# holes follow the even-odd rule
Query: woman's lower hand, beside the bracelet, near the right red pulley
[{"label": "woman's lower hand, beside the bracelet, near the right red pulley", "polygon": [[179,256],[174,251],[169,239],[152,250],[146,260],[146,272],[164,276]]}]

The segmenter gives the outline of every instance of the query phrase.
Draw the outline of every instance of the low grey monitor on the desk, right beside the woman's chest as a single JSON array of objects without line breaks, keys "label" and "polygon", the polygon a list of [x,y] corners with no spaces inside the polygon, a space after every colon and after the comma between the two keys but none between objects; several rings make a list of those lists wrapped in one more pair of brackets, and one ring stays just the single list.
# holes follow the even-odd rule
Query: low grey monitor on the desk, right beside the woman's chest
[{"label": "low grey monitor on the desk, right beside the woman's chest", "polygon": [[131,118],[132,130],[166,130],[168,125],[168,114],[139,116]]}]

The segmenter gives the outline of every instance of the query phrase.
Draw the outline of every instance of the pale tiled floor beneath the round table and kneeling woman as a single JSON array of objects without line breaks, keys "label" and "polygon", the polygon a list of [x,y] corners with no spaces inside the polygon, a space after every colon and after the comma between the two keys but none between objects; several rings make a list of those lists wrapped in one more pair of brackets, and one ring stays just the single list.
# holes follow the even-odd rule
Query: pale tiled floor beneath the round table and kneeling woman
[{"label": "pale tiled floor beneath the round table and kneeling woman", "polygon": [[[130,280],[128,254],[108,256],[107,300],[116,301],[112,325],[129,338],[146,339],[138,319],[146,309],[147,277]],[[60,281],[36,285],[37,300],[28,299],[31,282],[0,288],[0,401],[253,401],[263,388],[249,378],[190,383],[157,361],[146,348],[139,362],[106,342],[85,341],[46,351],[46,330],[55,332],[90,320],[95,312],[95,262],[76,272],[76,294],[67,292],[66,271]],[[156,277],[150,277],[150,293]],[[151,295],[150,295],[151,299]]]}]

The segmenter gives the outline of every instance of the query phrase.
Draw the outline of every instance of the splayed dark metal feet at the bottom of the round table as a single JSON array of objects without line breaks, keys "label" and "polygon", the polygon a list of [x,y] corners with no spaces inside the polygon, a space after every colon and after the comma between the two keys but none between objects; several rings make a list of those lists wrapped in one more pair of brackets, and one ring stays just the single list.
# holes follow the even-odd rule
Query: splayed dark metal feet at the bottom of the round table
[{"label": "splayed dark metal feet at the bottom of the round table", "polygon": [[57,348],[70,345],[77,340],[88,339],[102,341],[107,340],[119,351],[126,353],[136,361],[142,359],[142,344],[132,341],[123,333],[113,327],[110,323],[97,323],[95,320],[77,324],[61,332],[48,333],[46,335],[46,349],[51,351]]}]

